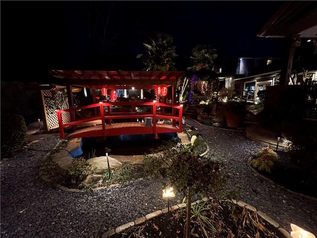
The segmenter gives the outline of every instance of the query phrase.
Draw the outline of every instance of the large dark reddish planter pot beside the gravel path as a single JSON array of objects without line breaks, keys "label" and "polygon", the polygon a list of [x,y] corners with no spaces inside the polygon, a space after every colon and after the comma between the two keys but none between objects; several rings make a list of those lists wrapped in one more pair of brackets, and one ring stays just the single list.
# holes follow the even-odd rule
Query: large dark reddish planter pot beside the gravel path
[{"label": "large dark reddish planter pot beside the gravel path", "polygon": [[229,127],[239,127],[246,116],[244,101],[231,100],[223,103],[223,111]]}]

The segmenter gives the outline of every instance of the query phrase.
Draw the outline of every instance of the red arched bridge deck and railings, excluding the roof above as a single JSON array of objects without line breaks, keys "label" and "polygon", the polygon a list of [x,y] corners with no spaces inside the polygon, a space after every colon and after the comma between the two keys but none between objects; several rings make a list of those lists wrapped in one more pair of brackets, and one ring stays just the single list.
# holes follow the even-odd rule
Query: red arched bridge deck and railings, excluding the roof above
[{"label": "red arched bridge deck and railings, excluding the roof above", "polygon": [[[74,113],[84,109],[97,109],[97,115],[88,118],[75,119],[64,123],[63,113]],[[117,112],[117,108],[124,108]],[[146,112],[138,111],[146,109]],[[100,102],[88,106],[57,109],[60,138],[99,137],[127,134],[155,134],[182,131],[182,105],[171,105],[153,102]],[[122,112],[124,111],[124,112]],[[169,119],[170,123],[166,123]],[[77,129],[77,125],[100,120],[94,126]],[[65,136],[64,127],[71,126],[73,132]]]}]

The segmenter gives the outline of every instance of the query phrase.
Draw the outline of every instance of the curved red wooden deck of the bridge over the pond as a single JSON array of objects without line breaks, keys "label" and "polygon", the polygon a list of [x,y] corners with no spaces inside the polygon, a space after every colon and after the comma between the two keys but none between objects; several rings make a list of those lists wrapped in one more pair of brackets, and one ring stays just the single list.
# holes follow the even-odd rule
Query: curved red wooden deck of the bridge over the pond
[{"label": "curved red wooden deck of the bridge over the pond", "polygon": [[145,122],[123,122],[112,123],[105,125],[105,132],[103,131],[102,124],[78,129],[66,138],[78,137],[99,137],[99,136],[112,136],[112,135],[132,135],[132,134],[159,134],[179,132],[179,127],[170,124],[156,123],[156,127],[146,126]]}]

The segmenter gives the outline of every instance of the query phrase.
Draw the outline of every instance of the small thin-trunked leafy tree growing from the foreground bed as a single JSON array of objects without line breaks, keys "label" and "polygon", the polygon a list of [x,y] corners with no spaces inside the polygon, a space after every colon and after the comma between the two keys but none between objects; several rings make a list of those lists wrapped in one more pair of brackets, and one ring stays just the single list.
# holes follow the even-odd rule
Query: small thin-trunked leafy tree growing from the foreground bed
[{"label": "small thin-trunked leafy tree growing from the foreground bed", "polygon": [[186,238],[190,235],[192,195],[201,193],[209,197],[222,189],[226,181],[222,173],[224,164],[211,157],[197,155],[195,146],[195,142],[193,146],[167,142],[153,154],[145,155],[143,161],[147,174],[167,178],[169,184],[163,185],[175,186],[187,198]]}]

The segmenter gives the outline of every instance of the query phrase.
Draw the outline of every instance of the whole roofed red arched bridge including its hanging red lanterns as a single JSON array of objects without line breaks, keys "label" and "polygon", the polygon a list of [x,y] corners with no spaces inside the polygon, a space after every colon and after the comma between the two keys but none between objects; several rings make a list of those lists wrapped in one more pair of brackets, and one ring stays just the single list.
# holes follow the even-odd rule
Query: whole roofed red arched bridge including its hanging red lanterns
[{"label": "whole roofed red arched bridge including its hanging red lanterns", "polygon": [[[57,110],[60,137],[65,138],[64,127],[71,126],[72,133],[67,138],[95,137],[126,134],[155,134],[182,131],[182,106],[176,105],[177,81],[183,77],[183,71],[100,71],[100,70],[50,70],[54,77],[63,78],[68,110]],[[91,90],[93,104],[75,107],[72,88]],[[164,92],[160,93],[160,89]],[[106,89],[110,95],[115,90],[132,90],[131,101],[106,99]],[[156,91],[157,96],[167,104],[156,101],[146,102],[141,95],[134,97],[134,90]],[[97,95],[97,92],[99,93]],[[100,92],[103,94],[101,95]],[[121,98],[122,99],[122,98]],[[140,99],[140,100],[138,100]],[[100,100],[98,103],[97,100]],[[158,99],[157,99],[158,100]],[[140,110],[140,108],[142,110]],[[92,110],[89,116],[77,117],[80,110]],[[120,109],[120,110],[118,110]],[[64,113],[68,113],[71,122],[63,122]],[[92,116],[91,116],[92,115]],[[66,116],[66,115],[65,115]],[[169,119],[170,123],[164,123]],[[77,129],[79,124],[98,120],[97,125]],[[177,121],[179,121],[177,126]]]}]

